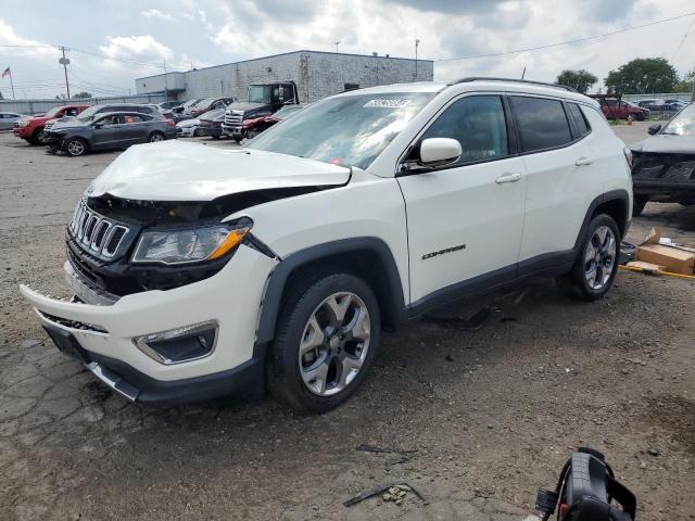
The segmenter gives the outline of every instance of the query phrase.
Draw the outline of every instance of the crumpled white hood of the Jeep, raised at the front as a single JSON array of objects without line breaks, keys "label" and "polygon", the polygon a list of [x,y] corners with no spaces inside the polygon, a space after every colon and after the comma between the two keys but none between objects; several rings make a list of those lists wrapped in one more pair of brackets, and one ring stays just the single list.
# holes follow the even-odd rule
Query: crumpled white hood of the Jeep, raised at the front
[{"label": "crumpled white hood of the Jeep, raised at the front", "polygon": [[172,140],[130,147],[91,182],[87,195],[202,202],[253,190],[338,186],[349,179],[349,168],[315,160]]}]

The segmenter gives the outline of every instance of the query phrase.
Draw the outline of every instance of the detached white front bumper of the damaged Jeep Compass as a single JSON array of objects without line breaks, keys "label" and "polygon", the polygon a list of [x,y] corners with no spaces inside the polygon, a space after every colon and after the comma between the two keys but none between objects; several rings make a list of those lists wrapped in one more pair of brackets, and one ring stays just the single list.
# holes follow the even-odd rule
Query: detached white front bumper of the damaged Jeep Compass
[{"label": "detached white front bumper of the damaged Jeep Compass", "polygon": [[[58,347],[113,391],[131,401],[178,403],[244,390],[255,393],[263,385],[255,330],[265,282],[276,263],[241,246],[211,278],[122,297],[99,292],[67,264],[66,281],[76,298],[52,298],[26,285],[20,290]],[[244,274],[241,291],[238,274]],[[166,338],[168,332],[174,332],[169,338],[190,336],[198,331],[191,325],[214,325],[214,334],[203,339],[210,342],[203,356],[176,360],[154,356],[143,344],[142,339]]]}]

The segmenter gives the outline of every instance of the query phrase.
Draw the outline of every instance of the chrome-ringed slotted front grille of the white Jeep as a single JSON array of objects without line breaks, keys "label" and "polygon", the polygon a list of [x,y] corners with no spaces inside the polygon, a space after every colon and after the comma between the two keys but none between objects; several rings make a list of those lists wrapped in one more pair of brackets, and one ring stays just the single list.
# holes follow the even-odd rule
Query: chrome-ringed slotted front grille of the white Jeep
[{"label": "chrome-ringed slotted front grille of the white Jeep", "polygon": [[110,259],[118,252],[130,228],[98,214],[80,201],[67,230],[83,250]]}]

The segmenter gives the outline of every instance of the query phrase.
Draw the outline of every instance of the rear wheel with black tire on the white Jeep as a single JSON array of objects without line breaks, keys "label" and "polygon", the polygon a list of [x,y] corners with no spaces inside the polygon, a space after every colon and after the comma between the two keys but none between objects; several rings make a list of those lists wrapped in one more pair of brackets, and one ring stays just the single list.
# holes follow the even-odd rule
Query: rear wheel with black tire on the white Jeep
[{"label": "rear wheel with black tire on the white Jeep", "polygon": [[604,296],[618,271],[620,230],[606,214],[595,216],[586,229],[572,269],[556,280],[563,293],[580,301],[596,301]]}]

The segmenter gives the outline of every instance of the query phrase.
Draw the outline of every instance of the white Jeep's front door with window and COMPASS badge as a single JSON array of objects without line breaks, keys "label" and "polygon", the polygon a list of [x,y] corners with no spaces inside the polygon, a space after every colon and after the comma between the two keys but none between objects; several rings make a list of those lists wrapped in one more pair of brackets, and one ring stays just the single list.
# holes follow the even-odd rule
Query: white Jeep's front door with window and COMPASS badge
[{"label": "white Jeep's front door with window and COMPASS badge", "polygon": [[460,158],[397,177],[407,213],[414,305],[444,296],[447,289],[477,291],[516,277],[526,170],[522,160],[510,155],[505,116],[500,96],[454,100],[419,141],[457,139]]}]

